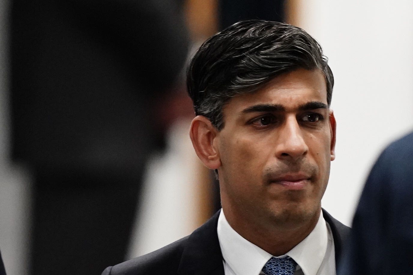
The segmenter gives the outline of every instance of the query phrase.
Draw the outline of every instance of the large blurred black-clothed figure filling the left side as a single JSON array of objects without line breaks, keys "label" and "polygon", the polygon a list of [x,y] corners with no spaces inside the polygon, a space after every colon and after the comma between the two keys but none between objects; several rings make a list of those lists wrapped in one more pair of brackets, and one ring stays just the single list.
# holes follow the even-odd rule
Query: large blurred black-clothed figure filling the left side
[{"label": "large blurred black-clothed figure filling the left side", "polygon": [[187,56],[180,4],[12,1],[13,157],[34,174],[34,275],[124,260],[154,107]]}]

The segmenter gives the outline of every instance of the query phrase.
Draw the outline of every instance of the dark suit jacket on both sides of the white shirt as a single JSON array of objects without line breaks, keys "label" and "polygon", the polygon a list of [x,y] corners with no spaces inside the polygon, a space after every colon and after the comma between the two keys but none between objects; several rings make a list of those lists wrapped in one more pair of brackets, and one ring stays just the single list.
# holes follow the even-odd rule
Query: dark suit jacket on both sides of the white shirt
[{"label": "dark suit jacket on both sides of the white shirt", "polygon": [[[350,228],[332,218],[324,210],[323,215],[332,230],[337,262]],[[102,275],[224,275],[216,232],[218,216],[219,211],[191,235],[150,254],[110,266]]]}]

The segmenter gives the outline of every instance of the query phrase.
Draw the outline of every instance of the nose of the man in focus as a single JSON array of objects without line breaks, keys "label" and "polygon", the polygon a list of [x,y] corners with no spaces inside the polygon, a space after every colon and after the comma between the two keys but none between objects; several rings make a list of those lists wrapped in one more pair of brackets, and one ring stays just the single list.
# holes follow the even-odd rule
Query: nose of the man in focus
[{"label": "nose of the man in focus", "polygon": [[292,116],[278,129],[276,157],[290,161],[297,161],[305,156],[309,150],[297,119]]}]

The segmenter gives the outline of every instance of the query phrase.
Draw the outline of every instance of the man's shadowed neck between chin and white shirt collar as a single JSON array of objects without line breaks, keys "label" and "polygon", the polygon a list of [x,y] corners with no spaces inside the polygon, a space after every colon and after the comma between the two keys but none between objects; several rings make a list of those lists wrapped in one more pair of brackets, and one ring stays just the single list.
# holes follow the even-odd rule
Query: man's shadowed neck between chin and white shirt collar
[{"label": "man's shadowed neck between chin and white shirt collar", "polygon": [[223,206],[225,218],[230,226],[244,239],[273,256],[285,255],[305,239],[315,228],[320,217],[320,210],[316,211],[309,220],[278,225],[268,220],[259,221],[259,219],[248,219],[244,216],[239,218],[233,215],[233,211],[224,209]]}]

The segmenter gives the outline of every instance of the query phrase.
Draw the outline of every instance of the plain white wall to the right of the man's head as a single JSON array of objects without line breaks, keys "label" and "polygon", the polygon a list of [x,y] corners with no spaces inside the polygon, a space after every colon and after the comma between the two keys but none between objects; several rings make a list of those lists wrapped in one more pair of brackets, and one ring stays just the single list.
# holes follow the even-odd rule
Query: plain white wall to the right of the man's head
[{"label": "plain white wall to the right of the man's head", "polygon": [[302,0],[299,13],[335,76],[336,160],[322,205],[349,225],[381,149],[413,130],[413,1]]}]

